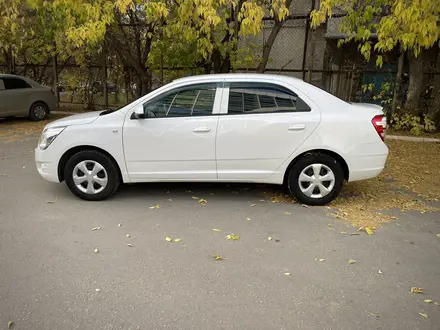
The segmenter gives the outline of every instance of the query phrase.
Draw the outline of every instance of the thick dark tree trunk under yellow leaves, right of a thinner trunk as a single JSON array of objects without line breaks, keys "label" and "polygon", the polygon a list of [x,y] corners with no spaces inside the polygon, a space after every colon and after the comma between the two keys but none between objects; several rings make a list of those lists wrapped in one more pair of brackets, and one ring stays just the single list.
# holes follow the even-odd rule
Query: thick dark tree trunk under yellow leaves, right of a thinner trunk
[{"label": "thick dark tree trunk under yellow leaves, right of a thinner trunk", "polygon": [[405,112],[420,115],[419,101],[423,82],[423,51],[415,57],[414,52],[408,53],[409,85],[405,103]]}]

